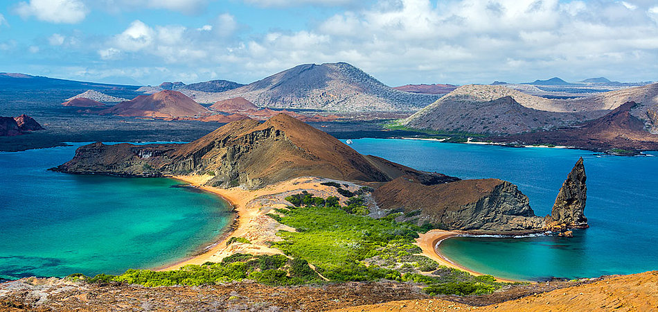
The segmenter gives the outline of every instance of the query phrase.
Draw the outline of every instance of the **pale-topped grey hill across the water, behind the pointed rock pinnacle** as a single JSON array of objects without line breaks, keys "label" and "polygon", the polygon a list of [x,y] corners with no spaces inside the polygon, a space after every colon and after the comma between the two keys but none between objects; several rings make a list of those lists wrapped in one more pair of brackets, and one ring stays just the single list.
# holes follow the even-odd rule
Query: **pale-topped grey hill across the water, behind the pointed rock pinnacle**
[{"label": "pale-topped grey hill across the water, behind the pointed rock pinnacle", "polygon": [[404,119],[402,125],[472,133],[519,133],[570,125],[601,115],[560,112],[554,103],[501,85],[465,85]]}]

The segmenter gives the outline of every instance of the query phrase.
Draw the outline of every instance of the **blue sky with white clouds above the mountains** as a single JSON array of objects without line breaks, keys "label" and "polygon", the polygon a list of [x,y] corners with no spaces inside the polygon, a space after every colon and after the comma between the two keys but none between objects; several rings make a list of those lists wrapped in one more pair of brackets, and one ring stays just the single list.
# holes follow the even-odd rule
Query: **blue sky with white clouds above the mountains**
[{"label": "blue sky with white clouds above the mountains", "polygon": [[658,80],[657,0],[0,0],[0,72],[251,83],[348,62],[386,85]]}]

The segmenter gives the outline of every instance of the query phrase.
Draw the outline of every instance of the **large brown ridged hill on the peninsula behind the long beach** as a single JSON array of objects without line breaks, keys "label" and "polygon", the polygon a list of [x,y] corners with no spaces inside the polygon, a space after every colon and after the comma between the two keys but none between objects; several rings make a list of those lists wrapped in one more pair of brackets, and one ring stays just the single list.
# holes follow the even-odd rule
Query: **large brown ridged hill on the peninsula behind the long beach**
[{"label": "large brown ridged hill on the peninsula behind the long beach", "polygon": [[456,180],[361,155],[286,114],[265,123],[234,121],[189,144],[89,144],[58,170],[134,176],[212,172],[213,185],[251,189],[301,176],[362,182],[386,182],[400,175],[429,183]]}]

